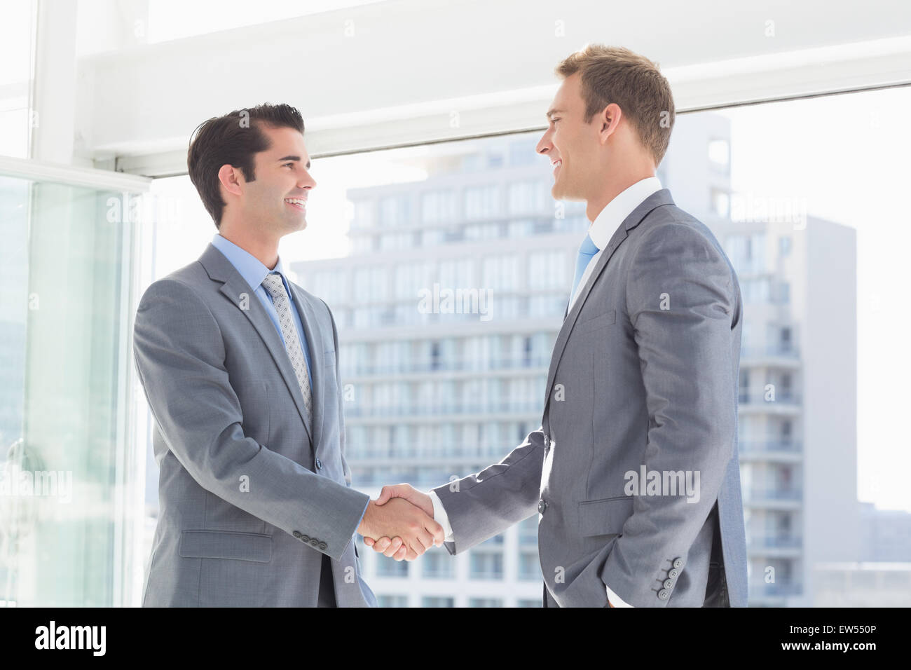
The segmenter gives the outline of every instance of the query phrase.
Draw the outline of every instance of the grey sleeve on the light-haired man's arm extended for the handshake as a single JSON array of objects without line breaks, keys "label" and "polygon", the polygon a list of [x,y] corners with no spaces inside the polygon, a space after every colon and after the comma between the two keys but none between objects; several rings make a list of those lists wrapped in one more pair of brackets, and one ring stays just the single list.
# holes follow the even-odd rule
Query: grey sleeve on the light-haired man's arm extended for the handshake
[{"label": "grey sleeve on the light-haired man's arm extended for the handshake", "polygon": [[543,465],[544,431],[537,428],[499,463],[435,488],[453,531],[446,551],[467,551],[536,513]]}]

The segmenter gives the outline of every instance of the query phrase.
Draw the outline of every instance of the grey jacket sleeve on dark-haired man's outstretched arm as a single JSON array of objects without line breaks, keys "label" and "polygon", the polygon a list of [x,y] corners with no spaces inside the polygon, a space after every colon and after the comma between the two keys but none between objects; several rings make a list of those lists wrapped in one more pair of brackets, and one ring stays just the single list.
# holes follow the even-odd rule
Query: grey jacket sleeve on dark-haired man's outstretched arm
[{"label": "grey jacket sleeve on dark-haired man's outstretched arm", "polygon": [[325,544],[312,549],[341,560],[369,496],[244,436],[220,327],[200,296],[177,280],[152,283],[138,306],[133,345],[148,407],[190,476],[283,531],[318,538]]}]

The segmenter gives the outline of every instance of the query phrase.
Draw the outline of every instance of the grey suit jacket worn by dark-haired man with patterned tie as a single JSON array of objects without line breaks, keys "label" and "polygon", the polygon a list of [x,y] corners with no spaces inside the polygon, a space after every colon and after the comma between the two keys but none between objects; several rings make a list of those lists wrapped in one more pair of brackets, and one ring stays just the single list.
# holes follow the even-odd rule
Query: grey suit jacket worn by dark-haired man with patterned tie
[{"label": "grey suit jacket worn by dark-haired man with patterned tie", "polygon": [[375,606],[353,534],[369,496],[344,459],[338,335],[291,283],[310,346],[313,423],[268,314],[212,244],[152,283],[134,353],[155,419],[159,521],[146,606]]}]

